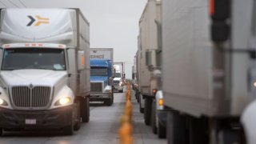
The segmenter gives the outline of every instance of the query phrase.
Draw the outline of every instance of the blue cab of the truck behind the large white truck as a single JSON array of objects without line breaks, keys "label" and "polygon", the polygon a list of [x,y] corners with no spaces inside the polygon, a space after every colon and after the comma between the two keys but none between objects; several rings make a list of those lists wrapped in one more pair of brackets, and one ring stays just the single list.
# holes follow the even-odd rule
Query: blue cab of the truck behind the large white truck
[{"label": "blue cab of the truck behind the large white truck", "polygon": [[90,59],[90,102],[103,101],[107,106],[113,104],[112,70],[110,59]]}]

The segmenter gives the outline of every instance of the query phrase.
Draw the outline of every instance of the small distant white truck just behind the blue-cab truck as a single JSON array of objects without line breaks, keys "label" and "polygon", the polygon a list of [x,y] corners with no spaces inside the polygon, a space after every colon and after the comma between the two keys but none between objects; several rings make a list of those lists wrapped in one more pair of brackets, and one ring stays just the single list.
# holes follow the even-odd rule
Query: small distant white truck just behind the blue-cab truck
[{"label": "small distant white truck just behind the blue-cab truck", "polygon": [[125,63],[124,62],[114,62],[114,90],[118,92],[123,92],[123,86],[125,82]]}]

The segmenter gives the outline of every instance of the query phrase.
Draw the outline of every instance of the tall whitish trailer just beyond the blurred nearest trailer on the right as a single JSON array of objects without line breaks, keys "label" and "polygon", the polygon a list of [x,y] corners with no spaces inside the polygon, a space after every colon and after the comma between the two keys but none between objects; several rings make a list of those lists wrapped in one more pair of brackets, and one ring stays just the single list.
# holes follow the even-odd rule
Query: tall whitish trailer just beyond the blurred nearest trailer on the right
[{"label": "tall whitish trailer just beyond the blurred nearest trailer on the right", "polygon": [[138,102],[146,125],[150,125],[151,104],[158,89],[158,78],[152,71],[159,66],[156,61],[159,22],[161,1],[149,0],[139,21],[138,36]]}]

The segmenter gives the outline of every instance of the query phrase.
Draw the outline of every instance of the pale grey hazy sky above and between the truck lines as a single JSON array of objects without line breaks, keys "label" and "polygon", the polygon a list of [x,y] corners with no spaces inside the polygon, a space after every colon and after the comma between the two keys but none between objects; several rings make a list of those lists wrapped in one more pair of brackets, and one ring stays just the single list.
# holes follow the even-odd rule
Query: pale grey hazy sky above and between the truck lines
[{"label": "pale grey hazy sky above and between the truck lines", "polygon": [[147,0],[0,0],[1,7],[79,7],[90,22],[90,47],[114,48],[126,63],[126,78],[137,50],[138,21]]}]

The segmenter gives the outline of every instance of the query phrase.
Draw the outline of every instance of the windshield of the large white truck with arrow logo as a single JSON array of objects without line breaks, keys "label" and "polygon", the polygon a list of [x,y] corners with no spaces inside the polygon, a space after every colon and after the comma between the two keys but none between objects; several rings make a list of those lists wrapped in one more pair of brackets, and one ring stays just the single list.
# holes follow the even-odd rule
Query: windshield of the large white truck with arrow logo
[{"label": "windshield of the large white truck with arrow logo", "polygon": [[62,49],[15,48],[4,51],[2,70],[43,69],[66,70]]}]

